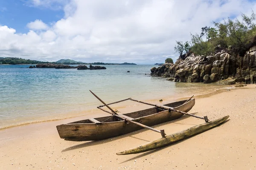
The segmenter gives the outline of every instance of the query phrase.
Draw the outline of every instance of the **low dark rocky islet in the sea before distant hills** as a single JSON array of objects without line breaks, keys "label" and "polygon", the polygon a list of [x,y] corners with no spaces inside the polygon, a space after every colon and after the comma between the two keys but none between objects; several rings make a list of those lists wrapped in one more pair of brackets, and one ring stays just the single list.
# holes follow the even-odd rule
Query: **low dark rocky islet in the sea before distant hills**
[{"label": "low dark rocky islet in the sea before distant hills", "polygon": [[104,66],[92,66],[90,65],[89,68],[86,65],[79,65],[79,66],[70,66],[70,65],[63,65],[63,64],[53,64],[53,63],[44,63],[38,64],[35,68],[55,68],[55,69],[69,69],[69,68],[76,68],[77,70],[102,70],[106,69]]}]

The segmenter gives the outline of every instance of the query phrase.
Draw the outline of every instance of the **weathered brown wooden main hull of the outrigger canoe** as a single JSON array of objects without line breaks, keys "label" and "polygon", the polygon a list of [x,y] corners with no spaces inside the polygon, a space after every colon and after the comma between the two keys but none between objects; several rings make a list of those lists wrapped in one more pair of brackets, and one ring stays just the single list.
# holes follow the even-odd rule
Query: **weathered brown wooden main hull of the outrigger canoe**
[{"label": "weathered brown wooden main hull of the outrigger canoe", "polygon": [[[186,102],[186,100],[169,103],[166,104],[166,106],[174,107],[179,111],[188,112],[195,105],[195,99],[191,99],[190,101],[183,104],[184,102]],[[126,113],[124,115],[134,118],[133,121],[139,122],[147,126],[153,126],[158,125],[160,123],[168,122],[177,119],[183,115],[182,113],[177,113],[174,111],[160,111],[158,113],[157,112],[157,108],[149,108],[142,111]],[[59,136],[62,139],[69,141],[93,141],[120,136],[143,128],[135,124],[127,124],[123,120],[116,120],[111,116],[95,119],[99,120],[100,122],[102,122],[103,119],[110,119],[111,122],[102,122],[100,124],[97,124],[88,123],[88,120],[82,120],[78,122],[71,122],[68,124],[58,125],[57,130]]]}]

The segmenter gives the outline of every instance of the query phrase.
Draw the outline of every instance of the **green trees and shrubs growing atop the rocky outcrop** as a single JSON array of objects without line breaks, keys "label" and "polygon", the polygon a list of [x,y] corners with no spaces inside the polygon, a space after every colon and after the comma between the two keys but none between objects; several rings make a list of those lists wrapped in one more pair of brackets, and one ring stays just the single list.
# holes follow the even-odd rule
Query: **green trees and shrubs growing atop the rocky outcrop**
[{"label": "green trees and shrubs growing atop the rocky outcrop", "polygon": [[[227,49],[232,54],[243,56],[246,51],[256,44],[255,14],[241,14],[241,20],[228,18],[223,22],[214,22],[215,28],[205,26],[201,34],[191,34],[190,42],[176,41],[176,53],[189,55],[191,53],[209,56]],[[204,38],[204,39],[203,39]]]}]

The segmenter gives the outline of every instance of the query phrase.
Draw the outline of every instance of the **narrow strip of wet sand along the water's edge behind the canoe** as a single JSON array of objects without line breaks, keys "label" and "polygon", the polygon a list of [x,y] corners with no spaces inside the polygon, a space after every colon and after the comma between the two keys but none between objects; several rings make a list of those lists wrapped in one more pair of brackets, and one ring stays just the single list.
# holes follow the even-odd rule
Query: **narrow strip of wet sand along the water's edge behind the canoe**
[{"label": "narrow strip of wet sand along the water's edge behind the canoe", "polygon": [[[206,93],[206,94],[196,94],[193,98],[204,98],[204,96],[214,95],[216,93],[221,93],[222,91],[225,91],[227,89],[238,89],[238,88],[234,88],[233,85],[221,85],[220,87],[222,87],[222,88],[215,89],[212,92],[209,92],[209,93]],[[189,97],[191,97],[191,96],[182,96],[182,97],[174,98],[173,95],[172,95],[171,98],[164,97],[163,98],[163,102],[159,102],[158,101],[159,99],[157,99],[157,98],[147,99],[147,100],[144,100],[144,101],[145,102],[155,102],[155,103],[157,103],[159,105],[164,105],[166,103],[169,103],[169,102],[172,102],[172,101],[175,101],[175,100],[183,100],[183,99],[186,99],[186,98],[189,98]],[[136,106],[136,104],[137,105],[143,105],[143,104],[139,104],[137,102],[134,102],[135,106]],[[116,107],[116,109],[120,109],[120,108],[122,109],[122,108],[127,108],[127,107],[129,107],[129,106],[127,106],[125,104],[122,105],[120,103],[119,106]],[[98,111],[99,110],[97,108],[84,109],[83,111],[80,111],[79,113],[75,113],[74,116],[72,116],[73,113],[70,112],[70,113],[66,114],[67,117],[64,117],[64,118],[61,118],[61,119],[43,119],[43,120],[35,120],[34,122],[20,122],[20,123],[17,123],[15,125],[12,124],[12,125],[6,125],[6,126],[3,126],[3,127],[0,127],[0,130],[12,128],[12,127],[25,126],[25,125],[30,125],[30,124],[52,122],[52,121],[65,120],[65,119],[73,119],[73,118],[83,117],[83,116],[86,116],[86,115],[93,114],[93,112],[97,113]]]}]

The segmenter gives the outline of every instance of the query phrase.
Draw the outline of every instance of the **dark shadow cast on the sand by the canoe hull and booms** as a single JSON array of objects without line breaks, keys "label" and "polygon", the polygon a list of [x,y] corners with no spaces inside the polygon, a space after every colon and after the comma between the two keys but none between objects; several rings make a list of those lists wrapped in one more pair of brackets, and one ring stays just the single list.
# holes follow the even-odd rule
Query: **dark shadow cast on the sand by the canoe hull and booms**
[{"label": "dark shadow cast on the sand by the canoe hull and booms", "polygon": [[[190,114],[195,115],[197,113],[198,112],[190,113]],[[188,115],[183,115],[183,116],[181,116],[178,119],[175,119],[175,120],[172,120],[172,121],[169,121],[169,122],[165,122],[165,123],[161,123],[159,125],[154,125],[152,127],[155,128],[155,127],[159,127],[159,126],[163,126],[163,125],[168,125],[170,123],[175,123],[177,121],[180,121],[180,120],[183,120],[183,119],[187,119],[189,117],[190,116],[188,116]],[[178,123],[178,124],[181,124],[181,123]],[[192,124],[183,124],[183,125],[192,125]],[[146,130],[148,130],[148,129],[141,129],[141,130],[137,130],[136,132],[137,133],[141,133],[141,132],[145,132]],[[101,140],[101,141],[89,141],[89,142],[85,142],[85,143],[82,143],[82,144],[76,144],[74,146],[67,147],[66,149],[62,150],[61,152],[66,152],[66,151],[69,151],[69,150],[80,149],[80,148],[83,148],[83,147],[90,147],[90,146],[94,146],[94,145],[98,145],[98,144],[105,144],[105,143],[112,142],[112,141],[115,141],[115,140],[118,140],[118,139],[122,139],[122,138],[125,138],[125,137],[132,137],[132,138],[136,138],[136,139],[139,139],[139,140],[142,140],[142,141],[145,141],[145,142],[150,142],[150,141],[147,141],[145,139],[140,139],[140,138],[134,137],[132,135],[134,135],[134,132],[127,133],[127,134],[121,135],[121,136],[116,136],[116,137],[113,137],[113,138],[110,138],[110,139],[104,139],[104,140]]]}]

